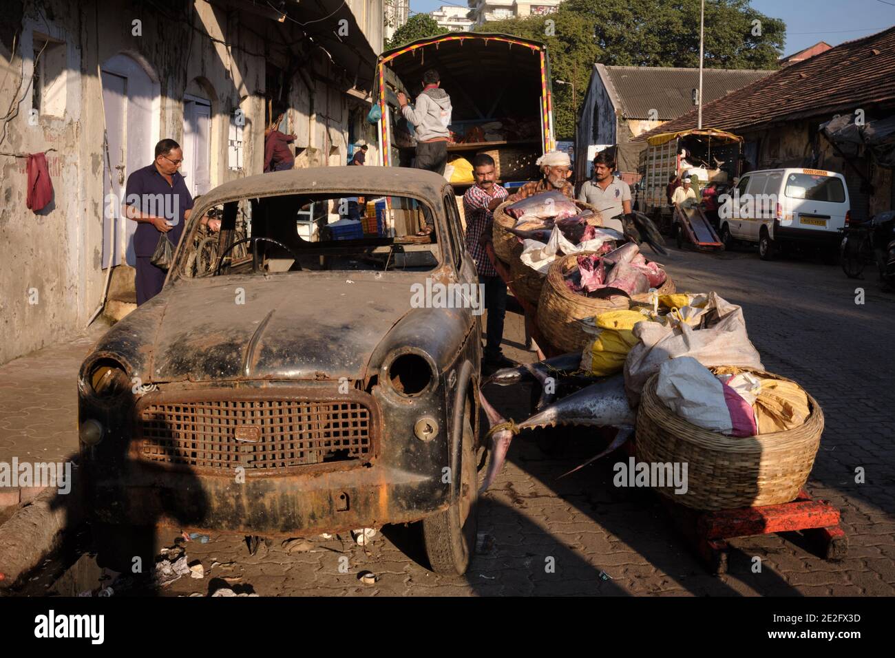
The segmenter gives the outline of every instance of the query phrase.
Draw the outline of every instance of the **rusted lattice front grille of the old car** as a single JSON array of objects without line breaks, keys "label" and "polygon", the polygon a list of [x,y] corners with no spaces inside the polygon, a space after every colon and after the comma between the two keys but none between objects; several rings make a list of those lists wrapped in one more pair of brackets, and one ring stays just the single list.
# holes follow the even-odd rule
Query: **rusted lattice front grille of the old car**
[{"label": "rusted lattice front grille of the old car", "polygon": [[355,400],[159,401],[139,423],[139,458],[166,465],[282,469],[371,455],[371,410]]}]

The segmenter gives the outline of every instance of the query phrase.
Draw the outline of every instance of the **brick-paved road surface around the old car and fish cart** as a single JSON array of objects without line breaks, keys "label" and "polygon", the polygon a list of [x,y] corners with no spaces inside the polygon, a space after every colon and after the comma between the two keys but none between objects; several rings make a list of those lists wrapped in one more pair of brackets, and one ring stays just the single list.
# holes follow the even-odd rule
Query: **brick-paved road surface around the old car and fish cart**
[{"label": "brick-paved road surface around the old car and fish cart", "polygon": [[[241,537],[211,534],[209,543],[186,544],[205,576],[183,577],[162,594],[209,594],[222,586],[261,595],[895,594],[895,295],[810,259],[672,250],[665,260],[678,290],[715,290],[741,304],[765,367],[801,382],[823,406],[826,429],[808,490],[841,509],[850,541],[845,560],[816,557],[800,534],[765,535],[731,542],[729,573],[713,577],[650,491],[612,486],[615,458],[558,479],[603,445],[577,432],[555,457],[534,440],[514,441],[480,502],[481,551],[465,577],[422,567],[413,528],[387,527],[366,547],[350,537],[318,537],[294,543],[290,553],[277,540],[254,556]],[[857,286],[865,286],[863,305],[855,302]],[[508,314],[507,355],[533,360],[518,349],[521,342],[521,321]],[[66,376],[72,382],[74,371]],[[527,390],[488,395],[507,417],[524,417]],[[856,483],[857,467],[865,483]],[[159,539],[173,544],[177,534]],[[752,571],[756,556],[760,573]],[[377,582],[362,585],[362,570]]]}]

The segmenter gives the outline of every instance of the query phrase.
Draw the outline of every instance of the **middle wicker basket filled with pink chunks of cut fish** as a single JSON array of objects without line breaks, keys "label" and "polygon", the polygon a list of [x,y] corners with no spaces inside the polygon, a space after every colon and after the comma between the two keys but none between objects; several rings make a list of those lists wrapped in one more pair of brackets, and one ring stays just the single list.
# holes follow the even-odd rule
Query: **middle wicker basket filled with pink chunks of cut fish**
[{"label": "middle wicker basket filled with pink chunks of cut fish", "polygon": [[[593,335],[587,333],[578,320],[592,318],[602,312],[624,310],[630,305],[629,298],[625,295],[586,297],[567,288],[563,275],[577,266],[578,256],[590,253],[593,252],[570,253],[553,261],[541,288],[541,298],[538,300],[538,328],[541,329],[543,337],[560,354],[584,349],[587,341],[593,339]],[[671,295],[674,292],[674,281],[666,276],[665,283],[659,287],[659,294]],[[634,295],[631,299],[646,302],[649,295]]]}]

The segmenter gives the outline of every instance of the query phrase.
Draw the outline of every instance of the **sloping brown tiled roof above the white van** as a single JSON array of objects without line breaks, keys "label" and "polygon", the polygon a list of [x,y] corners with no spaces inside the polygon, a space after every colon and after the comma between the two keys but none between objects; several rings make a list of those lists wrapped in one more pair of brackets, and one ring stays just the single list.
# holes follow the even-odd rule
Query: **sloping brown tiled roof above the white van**
[{"label": "sloping brown tiled roof above the white van", "polygon": [[[703,125],[742,132],[751,126],[808,116],[831,118],[859,107],[895,103],[895,27],[831,48],[703,106]],[[659,132],[695,128],[696,110]]]}]

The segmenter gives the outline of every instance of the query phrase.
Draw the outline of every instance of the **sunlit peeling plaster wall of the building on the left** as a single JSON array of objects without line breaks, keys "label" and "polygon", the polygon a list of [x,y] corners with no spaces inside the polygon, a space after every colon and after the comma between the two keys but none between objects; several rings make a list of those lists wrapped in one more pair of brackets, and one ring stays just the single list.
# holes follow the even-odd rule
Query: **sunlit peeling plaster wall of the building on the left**
[{"label": "sunlit peeling plaster wall of the building on the left", "polygon": [[[55,198],[38,215],[25,207],[26,160],[0,156],[0,244],[4,247],[0,363],[77,335],[102,299],[106,270],[101,269],[104,173],[98,63],[124,53],[158,81],[156,127],[147,127],[149,132],[158,131],[151,135],[153,143],[164,137],[183,140],[183,93],[198,85],[201,95],[212,103],[212,185],[262,171],[265,66],[268,60],[282,64],[276,62],[272,44],[302,41],[297,26],[284,27],[195,0],[187,6],[193,29],[182,18],[158,13],[174,11],[167,7],[140,2],[24,3],[16,52],[8,66],[0,60],[4,62],[0,77],[5,80],[0,107],[14,107],[13,91],[22,74],[25,85],[30,83],[32,35],[38,31],[64,42],[65,110],[60,116],[42,115],[37,125],[30,125],[32,96],[23,85],[15,97],[21,98],[19,114],[9,122],[7,137],[0,144],[0,150],[15,153],[55,148],[47,153]],[[141,21],[140,36],[132,34],[135,20]],[[313,146],[323,150],[321,164],[344,164],[345,90],[351,81],[319,50],[306,58],[302,68],[294,76],[289,96],[298,145],[307,146],[312,139]],[[310,92],[305,80],[312,81]],[[241,170],[228,167],[229,125],[237,107],[243,110],[245,122]],[[298,128],[302,122],[305,127]]]}]

